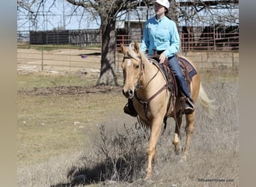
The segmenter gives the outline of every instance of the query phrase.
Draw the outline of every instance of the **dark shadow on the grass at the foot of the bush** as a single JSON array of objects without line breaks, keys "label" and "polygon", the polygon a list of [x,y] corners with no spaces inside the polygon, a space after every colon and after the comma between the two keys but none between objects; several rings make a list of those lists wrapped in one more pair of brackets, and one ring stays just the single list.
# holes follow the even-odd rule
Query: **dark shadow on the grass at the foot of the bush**
[{"label": "dark shadow on the grass at the foot of the bush", "polygon": [[51,187],[85,186],[101,183],[106,180],[132,183],[141,173],[144,157],[140,156],[136,160],[131,159],[119,158],[113,161],[113,159],[109,158],[92,168],[73,167],[67,174],[67,179],[69,179],[70,183],[59,183]]}]

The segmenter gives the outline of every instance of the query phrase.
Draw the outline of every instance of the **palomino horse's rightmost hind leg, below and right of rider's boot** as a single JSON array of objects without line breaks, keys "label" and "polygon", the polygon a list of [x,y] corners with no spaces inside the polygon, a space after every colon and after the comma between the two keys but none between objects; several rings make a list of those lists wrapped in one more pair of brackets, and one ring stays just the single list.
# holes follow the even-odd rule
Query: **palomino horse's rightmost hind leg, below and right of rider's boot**
[{"label": "palomino horse's rightmost hind leg, below and right of rider's boot", "polygon": [[194,119],[195,111],[192,114],[186,114],[186,143],[184,148],[184,155],[182,161],[186,161],[189,154],[189,145],[191,142],[192,134],[194,132]]}]

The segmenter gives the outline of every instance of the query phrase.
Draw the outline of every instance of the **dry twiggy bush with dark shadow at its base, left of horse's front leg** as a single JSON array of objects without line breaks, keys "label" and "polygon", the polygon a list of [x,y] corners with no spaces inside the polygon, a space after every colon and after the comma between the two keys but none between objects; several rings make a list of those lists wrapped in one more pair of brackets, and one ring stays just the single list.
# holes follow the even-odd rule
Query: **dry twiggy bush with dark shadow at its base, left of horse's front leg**
[{"label": "dry twiggy bush with dark shadow at its base, left of horse's front leg", "polygon": [[[78,164],[67,172],[68,183],[51,187],[97,184],[103,181],[132,183],[144,176],[146,154],[144,136],[134,128],[126,128],[125,133],[108,135],[105,126],[100,126],[101,144],[95,146],[94,154],[82,156]],[[137,135],[136,133],[137,132]]]}]

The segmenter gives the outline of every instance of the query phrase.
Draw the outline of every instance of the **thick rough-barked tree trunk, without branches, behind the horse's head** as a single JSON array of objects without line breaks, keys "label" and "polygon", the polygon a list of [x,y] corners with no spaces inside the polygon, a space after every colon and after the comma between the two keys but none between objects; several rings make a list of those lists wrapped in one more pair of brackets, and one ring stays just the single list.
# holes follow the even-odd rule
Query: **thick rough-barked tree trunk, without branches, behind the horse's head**
[{"label": "thick rough-barked tree trunk, without branches, behind the horse's head", "polygon": [[100,78],[97,85],[118,85],[115,73],[115,19],[103,25]]}]

